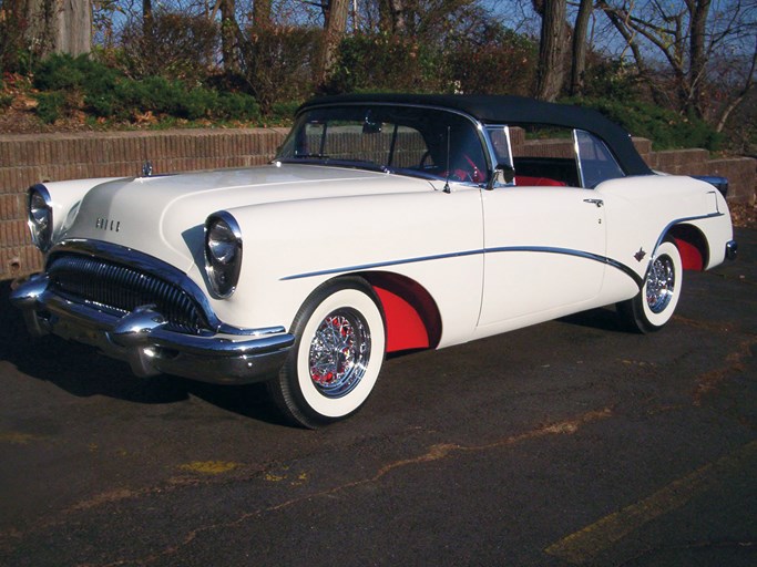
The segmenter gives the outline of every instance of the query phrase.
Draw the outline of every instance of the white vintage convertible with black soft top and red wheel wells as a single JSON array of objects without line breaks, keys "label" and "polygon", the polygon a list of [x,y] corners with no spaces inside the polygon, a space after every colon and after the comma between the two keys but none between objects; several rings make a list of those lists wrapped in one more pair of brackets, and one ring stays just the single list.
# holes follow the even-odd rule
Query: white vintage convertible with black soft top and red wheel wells
[{"label": "white vintage convertible with black soft top and red wheel wells", "polygon": [[655,174],[600,114],[510,96],[304,104],[267,166],[29,189],[53,332],[160,372],[267,381],[308,427],[358,410],[388,352],[617,305],[654,331],[683,271],[734,257],[724,196]]}]

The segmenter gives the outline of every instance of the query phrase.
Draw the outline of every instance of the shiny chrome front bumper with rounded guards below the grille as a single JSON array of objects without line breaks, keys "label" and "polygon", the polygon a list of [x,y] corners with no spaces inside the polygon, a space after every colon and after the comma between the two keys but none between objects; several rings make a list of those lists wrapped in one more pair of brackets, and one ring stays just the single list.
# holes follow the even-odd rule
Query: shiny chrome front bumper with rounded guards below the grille
[{"label": "shiny chrome front bumper with rounded guards below the grille", "polygon": [[185,334],[166,329],[165,318],[150,306],[119,317],[69,301],[53,293],[48,282],[44,275],[35,276],[11,293],[29,332],[96,347],[129,362],[139,377],[167,373],[224,384],[258,382],[282,368],[295,342],[283,327]]}]

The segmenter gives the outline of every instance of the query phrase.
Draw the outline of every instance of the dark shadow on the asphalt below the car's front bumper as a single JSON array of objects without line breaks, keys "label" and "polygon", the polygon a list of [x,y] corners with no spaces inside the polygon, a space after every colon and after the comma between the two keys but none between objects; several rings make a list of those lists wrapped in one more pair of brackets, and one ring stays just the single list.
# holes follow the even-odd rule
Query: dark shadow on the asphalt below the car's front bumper
[{"label": "dark shadow on the asphalt below the car's front bumper", "polygon": [[265,384],[216,385],[178,377],[137,378],[125,362],[58,337],[32,338],[10,305],[10,281],[0,281],[0,360],[79,398],[105,395],[142,404],[171,404],[196,396],[255,420],[279,424]]}]

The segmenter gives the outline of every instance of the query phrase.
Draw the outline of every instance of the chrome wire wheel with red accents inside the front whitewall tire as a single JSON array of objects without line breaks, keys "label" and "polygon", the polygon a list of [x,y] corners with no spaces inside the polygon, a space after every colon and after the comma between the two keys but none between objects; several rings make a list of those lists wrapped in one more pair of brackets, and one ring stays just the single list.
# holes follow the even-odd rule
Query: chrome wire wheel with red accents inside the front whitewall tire
[{"label": "chrome wire wheel with red accents inside the front whitewall tire", "polygon": [[338,309],[318,326],[310,342],[310,379],[327,398],[341,398],[357,386],[370,359],[370,331],[354,309]]}]

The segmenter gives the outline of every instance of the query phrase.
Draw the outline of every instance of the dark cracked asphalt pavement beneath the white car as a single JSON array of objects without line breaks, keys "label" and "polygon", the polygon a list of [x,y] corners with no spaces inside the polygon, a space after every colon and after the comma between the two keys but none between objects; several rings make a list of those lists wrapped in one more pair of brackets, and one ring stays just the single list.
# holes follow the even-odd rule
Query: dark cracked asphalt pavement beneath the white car
[{"label": "dark cracked asphalt pavement beneath the white car", "polygon": [[265,389],[32,341],[0,287],[0,565],[757,565],[757,231],[661,332],[613,309],[389,359],[311,432]]}]

